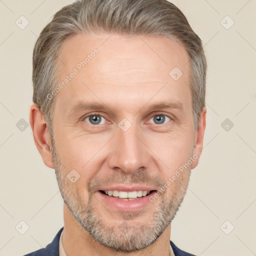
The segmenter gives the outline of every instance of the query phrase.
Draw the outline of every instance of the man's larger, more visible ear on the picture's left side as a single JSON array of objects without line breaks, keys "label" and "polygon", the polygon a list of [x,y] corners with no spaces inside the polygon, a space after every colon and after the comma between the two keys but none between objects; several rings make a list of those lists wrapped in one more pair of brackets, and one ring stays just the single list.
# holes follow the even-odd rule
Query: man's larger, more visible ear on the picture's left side
[{"label": "man's larger, more visible ear on the picture's left side", "polygon": [[32,128],[34,143],[42,157],[44,164],[50,168],[53,167],[50,135],[43,114],[35,103],[30,107],[29,122]]}]

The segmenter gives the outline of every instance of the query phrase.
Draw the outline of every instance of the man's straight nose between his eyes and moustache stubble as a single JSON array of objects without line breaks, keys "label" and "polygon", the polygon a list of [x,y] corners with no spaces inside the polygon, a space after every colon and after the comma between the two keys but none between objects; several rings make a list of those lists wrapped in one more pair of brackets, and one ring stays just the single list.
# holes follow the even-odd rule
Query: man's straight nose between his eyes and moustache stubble
[{"label": "man's straight nose between his eyes and moustache stubble", "polygon": [[139,168],[148,168],[149,150],[143,140],[141,132],[132,126],[126,131],[117,128],[110,145],[108,167],[126,174]]}]

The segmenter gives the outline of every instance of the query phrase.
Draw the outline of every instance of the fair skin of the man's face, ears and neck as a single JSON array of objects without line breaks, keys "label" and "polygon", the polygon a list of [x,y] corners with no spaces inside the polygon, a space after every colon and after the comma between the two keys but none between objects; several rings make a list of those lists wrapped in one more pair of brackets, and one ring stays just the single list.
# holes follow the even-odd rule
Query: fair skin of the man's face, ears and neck
[{"label": "fair skin of the man's face, ears and neck", "polygon": [[[30,108],[35,144],[44,163],[55,168],[65,202],[65,253],[167,256],[170,221],[199,156],[139,211],[112,208],[96,190],[123,183],[158,190],[202,151],[206,109],[194,130],[187,52],[166,37],[78,34],[59,54],[64,63],[59,63],[59,82],[94,48],[99,50],[95,57],[55,95],[53,134],[36,104]],[[169,75],[173,67],[183,73],[176,81]],[[107,108],[71,110],[88,101]],[[161,101],[180,102],[183,108],[148,108]],[[94,113],[100,115],[100,124],[89,119]],[[164,115],[163,123],[154,119],[159,115]],[[123,118],[131,124],[126,131],[118,126]],[[80,175],[74,183],[66,177],[72,169]]]}]

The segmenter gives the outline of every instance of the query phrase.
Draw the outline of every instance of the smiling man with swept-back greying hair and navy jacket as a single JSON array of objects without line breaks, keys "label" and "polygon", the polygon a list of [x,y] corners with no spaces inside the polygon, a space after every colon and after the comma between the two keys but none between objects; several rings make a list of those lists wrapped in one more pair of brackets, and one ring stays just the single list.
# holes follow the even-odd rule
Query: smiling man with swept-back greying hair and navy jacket
[{"label": "smiling man with swept-back greying hair and navy jacket", "polygon": [[205,130],[200,38],[166,0],[81,0],[33,51],[30,125],[64,227],[27,255],[192,255],[171,220]]}]

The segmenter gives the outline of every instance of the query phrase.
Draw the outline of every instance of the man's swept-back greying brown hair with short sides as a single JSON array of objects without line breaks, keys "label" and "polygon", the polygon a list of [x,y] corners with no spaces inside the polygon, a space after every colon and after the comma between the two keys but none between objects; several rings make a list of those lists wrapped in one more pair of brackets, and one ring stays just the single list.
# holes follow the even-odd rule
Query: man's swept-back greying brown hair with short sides
[{"label": "man's swept-back greying brown hair with short sides", "polygon": [[189,86],[194,128],[205,106],[206,58],[201,39],[184,14],[167,0],[77,0],[57,11],[41,31],[33,50],[33,102],[52,132],[58,58],[64,42],[79,33],[116,32],[122,35],[166,36],[181,43],[189,56]]}]

